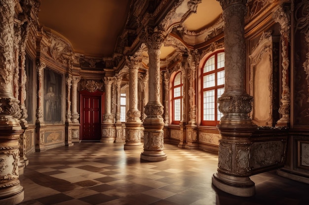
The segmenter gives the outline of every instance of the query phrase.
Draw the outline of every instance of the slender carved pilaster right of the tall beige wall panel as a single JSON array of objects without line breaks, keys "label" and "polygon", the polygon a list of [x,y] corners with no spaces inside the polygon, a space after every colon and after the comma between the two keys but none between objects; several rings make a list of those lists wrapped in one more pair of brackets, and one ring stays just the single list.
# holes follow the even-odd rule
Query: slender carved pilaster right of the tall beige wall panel
[{"label": "slender carved pilaster right of the tall beige wall panel", "polygon": [[281,5],[278,10],[273,13],[273,19],[281,26],[281,56],[282,56],[282,93],[281,105],[279,113],[282,117],[277,121],[276,127],[290,126],[290,60],[289,60],[289,47],[290,47],[290,11],[286,11],[284,6]]}]

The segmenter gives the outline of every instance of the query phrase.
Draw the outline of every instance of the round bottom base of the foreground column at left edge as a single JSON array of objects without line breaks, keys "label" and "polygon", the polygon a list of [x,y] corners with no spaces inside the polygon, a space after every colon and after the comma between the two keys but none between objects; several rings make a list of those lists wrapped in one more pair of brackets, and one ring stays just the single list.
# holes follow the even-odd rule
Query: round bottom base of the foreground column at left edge
[{"label": "round bottom base of the foreground column at left edge", "polygon": [[[24,200],[24,188],[20,185],[7,188],[0,191],[0,205],[17,205]],[[11,193],[14,192],[14,195]],[[5,198],[7,196],[7,198]]]}]

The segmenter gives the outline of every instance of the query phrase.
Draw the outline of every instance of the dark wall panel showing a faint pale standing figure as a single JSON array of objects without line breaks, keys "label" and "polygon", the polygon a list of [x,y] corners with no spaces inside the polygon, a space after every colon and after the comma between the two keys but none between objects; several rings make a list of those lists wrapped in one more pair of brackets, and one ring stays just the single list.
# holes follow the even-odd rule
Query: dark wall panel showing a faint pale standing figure
[{"label": "dark wall panel showing a faint pale standing figure", "polygon": [[44,121],[62,123],[62,75],[50,68],[44,70]]}]

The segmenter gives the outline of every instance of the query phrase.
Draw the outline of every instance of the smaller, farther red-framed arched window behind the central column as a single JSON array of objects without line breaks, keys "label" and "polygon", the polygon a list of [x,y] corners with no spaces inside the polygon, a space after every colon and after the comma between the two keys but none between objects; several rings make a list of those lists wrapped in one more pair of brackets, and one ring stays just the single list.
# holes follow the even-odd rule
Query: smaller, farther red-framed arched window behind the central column
[{"label": "smaller, farther red-framed arched window behind the central column", "polygon": [[179,124],[183,108],[183,83],[181,72],[178,72],[172,84],[173,124]]}]

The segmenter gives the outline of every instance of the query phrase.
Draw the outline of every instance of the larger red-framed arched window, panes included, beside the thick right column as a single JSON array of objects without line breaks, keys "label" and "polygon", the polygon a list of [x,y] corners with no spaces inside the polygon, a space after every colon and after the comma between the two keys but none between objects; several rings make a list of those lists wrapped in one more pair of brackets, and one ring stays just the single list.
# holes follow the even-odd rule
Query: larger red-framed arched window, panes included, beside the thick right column
[{"label": "larger red-framed arched window, panes included, beside the thick right column", "polygon": [[216,126],[223,116],[218,110],[217,99],[224,92],[224,51],[218,51],[209,56],[202,67],[201,124]]}]

